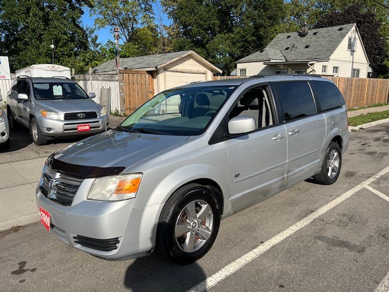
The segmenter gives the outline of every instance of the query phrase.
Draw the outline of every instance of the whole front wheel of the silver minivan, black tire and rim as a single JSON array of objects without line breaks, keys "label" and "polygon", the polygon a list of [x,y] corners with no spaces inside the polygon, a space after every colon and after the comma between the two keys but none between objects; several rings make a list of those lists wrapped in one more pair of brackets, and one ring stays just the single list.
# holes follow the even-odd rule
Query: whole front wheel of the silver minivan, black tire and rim
[{"label": "whole front wheel of the silver minivan, black tire and rim", "polygon": [[215,242],[220,217],[219,204],[209,188],[194,183],[183,186],[162,209],[156,237],[159,252],[180,265],[202,258]]}]

